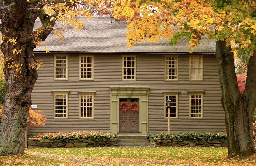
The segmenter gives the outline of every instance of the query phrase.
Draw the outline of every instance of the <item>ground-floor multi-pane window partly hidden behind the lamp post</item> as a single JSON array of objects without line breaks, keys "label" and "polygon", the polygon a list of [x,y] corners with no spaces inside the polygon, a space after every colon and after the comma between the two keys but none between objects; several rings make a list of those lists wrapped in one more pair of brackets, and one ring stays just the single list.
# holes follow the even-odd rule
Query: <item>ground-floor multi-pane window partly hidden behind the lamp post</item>
[{"label": "ground-floor multi-pane window partly hidden behind the lamp post", "polygon": [[170,117],[178,118],[178,95],[177,94],[166,94],[165,95],[165,118],[168,118],[168,103],[167,100],[170,100]]}]

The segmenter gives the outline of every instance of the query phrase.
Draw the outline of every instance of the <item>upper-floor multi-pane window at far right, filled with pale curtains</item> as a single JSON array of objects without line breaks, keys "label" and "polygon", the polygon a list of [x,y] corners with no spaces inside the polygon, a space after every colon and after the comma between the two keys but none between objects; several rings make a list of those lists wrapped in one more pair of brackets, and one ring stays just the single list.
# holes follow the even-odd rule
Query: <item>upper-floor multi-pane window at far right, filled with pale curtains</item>
[{"label": "upper-floor multi-pane window at far right, filled with pale curtains", "polygon": [[203,80],[203,57],[190,57],[190,80]]}]

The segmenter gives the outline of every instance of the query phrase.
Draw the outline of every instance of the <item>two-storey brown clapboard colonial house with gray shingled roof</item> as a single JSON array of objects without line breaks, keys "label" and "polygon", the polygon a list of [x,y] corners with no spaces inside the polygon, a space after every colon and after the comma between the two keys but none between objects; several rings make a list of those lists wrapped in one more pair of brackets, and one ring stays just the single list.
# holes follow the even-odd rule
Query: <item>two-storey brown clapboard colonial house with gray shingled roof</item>
[{"label": "two-storey brown clapboard colonial house with gray shingled roof", "polygon": [[[172,132],[225,129],[214,40],[202,38],[205,45],[193,53],[186,39],[174,46],[161,39],[129,48],[126,22],[110,17],[79,19],[85,28],[64,29],[62,40],[50,34],[34,50],[45,66],[38,69],[32,102],[47,121],[32,128],[31,134],[167,132],[167,99]],[[62,26],[57,23],[55,28]]]}]

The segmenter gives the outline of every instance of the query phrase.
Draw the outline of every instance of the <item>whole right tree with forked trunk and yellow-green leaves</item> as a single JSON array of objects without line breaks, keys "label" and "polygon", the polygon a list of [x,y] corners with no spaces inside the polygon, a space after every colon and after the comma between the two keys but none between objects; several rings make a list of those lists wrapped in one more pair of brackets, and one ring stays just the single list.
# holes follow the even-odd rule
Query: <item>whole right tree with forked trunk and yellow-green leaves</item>
[{"label": "whole right tree with forked trunk and yellow-green leaves", "polygon": [[[216,59],[222,106],[225,111],[229,157],[249,156],[256,152],[252,121],[256,107],[256,2],[255,0],[121,0],[115,11],[130,21],[134,12],[143,17],[131,21],[128,45],[143,40],[157,42],[167,38],[170,45],[187,37],[191,52],[202,36],[216,40]],[[174,31],[173,26],[179,26]],[[234,43],[236,47],[231,47]],[[204,44],[204,43],[202,43]],[[249,52],[245,90],[239,92],[234,66],[234,51]]]}]

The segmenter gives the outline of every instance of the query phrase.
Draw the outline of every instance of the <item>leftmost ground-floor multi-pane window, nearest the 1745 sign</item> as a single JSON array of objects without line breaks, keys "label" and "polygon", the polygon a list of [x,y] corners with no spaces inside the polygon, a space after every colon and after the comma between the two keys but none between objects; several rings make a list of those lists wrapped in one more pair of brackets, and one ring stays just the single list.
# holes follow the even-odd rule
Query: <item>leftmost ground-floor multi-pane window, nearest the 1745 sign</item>
[{"label": "leftmost ground-floor multi-pane window, nearest the 1745 sign", "polygon": [[54,117],[67,118],[67,94],[54,94]]}]

